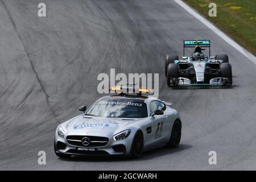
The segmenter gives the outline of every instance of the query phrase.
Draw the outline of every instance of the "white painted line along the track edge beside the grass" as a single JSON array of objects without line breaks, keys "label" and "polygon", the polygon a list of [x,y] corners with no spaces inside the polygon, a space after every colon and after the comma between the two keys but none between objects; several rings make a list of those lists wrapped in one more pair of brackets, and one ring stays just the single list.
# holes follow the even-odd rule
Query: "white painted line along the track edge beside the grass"
[{"label": "white painted line along the track edge beside the grass", "polygon": [[229,38],[224,32],[219,30],[216,26],[214,26],[212,23],[209,22],[209,20],[205,19],[203,16],[198,14],[195,10],[193,10],[190,6],[188,6],[186,3],[184,3],[181,0],[174,0],[176,3],[178,3],[181,7],[183,7],[188,13],[195,16],[200,22],[204,23],[210,30],[214,31],[218,36],[220,36],[223,40],[225,40],[227,43],[229,43],[231,46],[237,49],[237,51],[241,52],[243,55],[248,57],[251,61],[253,61],[254,64],[256,64],[256,57],[248,52],[245,48],[240,46],[238,43],[236,43],[234,40]]}]

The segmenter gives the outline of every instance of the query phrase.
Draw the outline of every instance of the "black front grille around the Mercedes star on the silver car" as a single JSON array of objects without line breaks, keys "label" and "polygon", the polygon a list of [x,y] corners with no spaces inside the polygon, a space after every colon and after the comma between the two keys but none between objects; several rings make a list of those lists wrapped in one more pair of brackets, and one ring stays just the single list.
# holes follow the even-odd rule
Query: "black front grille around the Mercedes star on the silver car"
[{"label": "black front grille around the Mercedes star on the silver car", "polygon": [[[88,145],[82,144],[83,138],[89,138],[90,142]],[[81,136],[81,135],[69,135],[67,136],[68,144],[79,147],[102,147],[108,144],[109,139],[107,137],[95,137],[95,136]]]}]

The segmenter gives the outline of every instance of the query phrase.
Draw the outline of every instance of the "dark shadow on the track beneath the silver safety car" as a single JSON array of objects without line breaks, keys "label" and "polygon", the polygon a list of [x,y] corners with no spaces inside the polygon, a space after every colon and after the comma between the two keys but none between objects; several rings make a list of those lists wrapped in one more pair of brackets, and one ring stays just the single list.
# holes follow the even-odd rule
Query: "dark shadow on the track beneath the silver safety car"
[{"label": "dark shadow on the track beneath the silver safety car", "polygon": [[125,156],[72,156],[69,159],[62,159],[63,161],[70,161],[70,162],[131,162],[131,161],[138,161],[138,160],[150,160],[154,158],[158,158],[160,156],[164,155],[171,155],[178,152],[182,152],[184,150],[188,150],[189,148],[192,148],[189,144],[180,144],[177,148],[168,148],[166,146],[155,148],[150,151],[143,152],[141,158],[138,159],[130,159]]}]

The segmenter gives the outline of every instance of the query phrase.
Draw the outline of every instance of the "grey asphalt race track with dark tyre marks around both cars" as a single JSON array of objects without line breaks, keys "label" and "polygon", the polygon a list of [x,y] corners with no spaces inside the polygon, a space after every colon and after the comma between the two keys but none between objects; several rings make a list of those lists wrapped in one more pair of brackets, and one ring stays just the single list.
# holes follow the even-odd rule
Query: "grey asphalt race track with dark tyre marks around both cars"
[{"label": "grey asphalt race track with dark tyre marks around both cars", "polygon": [[[0,2],[0,169],[256,169],[255,64],[174,1]],[[209,38],[212,55],[229,55],[233,86],[170,89],[164,55],[183,39]],[[99,73],[159,73],[160,98],[180,111],[180,147],[142,158],[58,159],[56,126],[101,97]],[[210,166],[208,152],[217,152]],[[46,151],[47,164],[38,164]]]}]

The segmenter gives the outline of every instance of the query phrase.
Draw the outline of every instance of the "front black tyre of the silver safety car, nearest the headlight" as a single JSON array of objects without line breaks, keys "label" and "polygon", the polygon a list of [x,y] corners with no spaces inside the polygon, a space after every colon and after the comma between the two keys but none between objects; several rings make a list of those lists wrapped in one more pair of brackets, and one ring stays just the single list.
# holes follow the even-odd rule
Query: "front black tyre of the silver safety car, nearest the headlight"
[{"label": "front black tyre of the silver safety car, nearest the headlight", "polygon": [[141,132],[135,134],[133,143],[131,144],[131,158],[139,158],[143,152],[144,139]]}]

